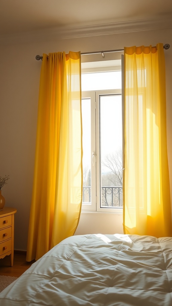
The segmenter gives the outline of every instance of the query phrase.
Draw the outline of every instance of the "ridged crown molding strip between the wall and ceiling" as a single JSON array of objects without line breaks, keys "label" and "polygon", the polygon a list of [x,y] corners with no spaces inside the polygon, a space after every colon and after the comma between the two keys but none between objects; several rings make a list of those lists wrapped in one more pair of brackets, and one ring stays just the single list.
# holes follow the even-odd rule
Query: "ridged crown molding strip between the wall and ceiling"
[{"label": "ridged crown molding strip between the wall and ceiling", "polygon": [[0,35],[0,45],[112,35],[167,28],[172,28],[172,15],[161,18],[94,24],[70,28],[47,28],[32,32]]}]

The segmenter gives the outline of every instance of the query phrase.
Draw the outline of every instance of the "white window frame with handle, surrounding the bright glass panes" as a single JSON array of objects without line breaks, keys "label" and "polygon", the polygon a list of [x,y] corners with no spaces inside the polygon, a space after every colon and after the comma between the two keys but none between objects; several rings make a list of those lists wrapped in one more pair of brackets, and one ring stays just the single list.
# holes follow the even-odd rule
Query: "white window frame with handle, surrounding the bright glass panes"
[{"label": "white window frame with handle, surrounding the bright glass panes", "polygon": [[[124,55],[121,54],[121,66],[119,66],[119,60],[116,61],[117,65],[114,67],[114,61],[107,61],[108,65],[104,65],[104,67],[99,68],[97,65],[96,68],[92,68],[92,63],[89,68],[82,69],[82,72],[100,72],[100,71],[124,71]],[[112,65],[110,65],[110,63]],[[81,64],[82,66],[82,64]],[[114,69],[115,68],[115,69]],[[92,131],[92,140],[91,140],[91,154],[95,152],[94,156],[94,164],[91,163],[91,175],[92,175],[92,183],[91,188],[95,190],[95,192],[91,192],[91,204],[82,204],[81,211],[85,212],[98,212],[98,213],[116,213],[123,214],[123,207],[118,208],[105,208],[100,207],[100,144],[99,144],[99,95],[122,95],[122,151],[123,151],[123,168],[124,168],[124,148],[125,148],[125,140],[124,140],[124,74],[122,73],[122,88],[121,89],[113,89],[113,90],[98,90],[98,91],[82,91],[82,99],[90,98],[91,103],[91,131]],[[92,158],[92,156],[91,156]],[[123,169],[123,177],[124,177],[124,169]],[[124,187],[124,184],[123,184]]]}]

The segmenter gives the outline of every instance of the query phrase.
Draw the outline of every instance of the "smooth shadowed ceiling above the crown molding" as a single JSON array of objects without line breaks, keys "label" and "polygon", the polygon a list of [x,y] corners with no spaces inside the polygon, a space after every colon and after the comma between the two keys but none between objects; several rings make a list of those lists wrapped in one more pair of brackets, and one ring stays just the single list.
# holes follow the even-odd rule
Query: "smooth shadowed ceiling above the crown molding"
[{"label": "smooth shadowed ceiling above the crown molding", "polygon": [[0,0],[0,34],[161,18],[172,0]]}]

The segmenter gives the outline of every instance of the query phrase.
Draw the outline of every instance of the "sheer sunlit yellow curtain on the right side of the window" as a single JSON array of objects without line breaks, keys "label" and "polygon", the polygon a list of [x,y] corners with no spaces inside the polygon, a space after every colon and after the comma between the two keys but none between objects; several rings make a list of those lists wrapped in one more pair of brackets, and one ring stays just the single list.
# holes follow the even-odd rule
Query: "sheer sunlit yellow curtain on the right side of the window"
[{"label": "sheer sunlit yellow curtain on the right side of the window", "polygon": [[163,44],[125,47],[124,233],[171,236]]}]

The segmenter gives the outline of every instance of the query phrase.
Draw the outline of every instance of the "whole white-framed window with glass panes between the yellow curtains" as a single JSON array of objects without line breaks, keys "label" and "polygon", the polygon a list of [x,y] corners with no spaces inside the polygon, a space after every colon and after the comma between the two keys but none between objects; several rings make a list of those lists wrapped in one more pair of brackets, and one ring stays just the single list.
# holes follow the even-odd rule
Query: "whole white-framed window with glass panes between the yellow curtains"
[{"label": "whole white-framed window with glass panes between the yellow curtains", "polygon": [[122,212],[122,84],[119,61],[114,71],[82,73],[81,84],[82,210]]}]

